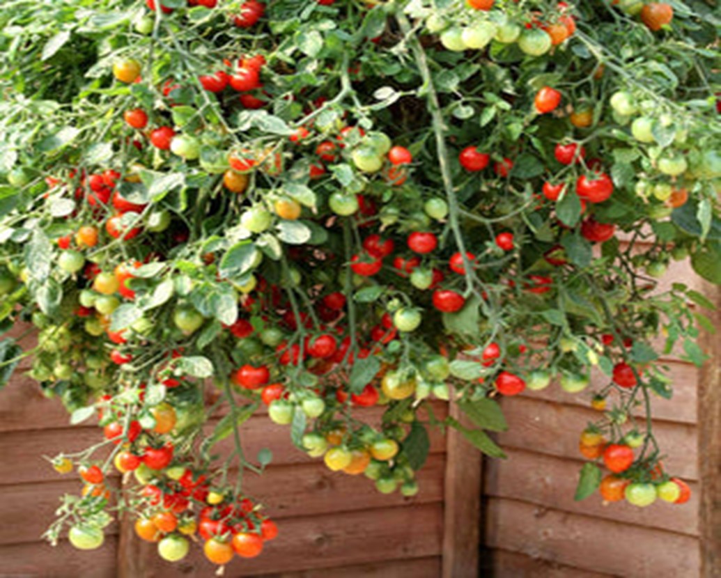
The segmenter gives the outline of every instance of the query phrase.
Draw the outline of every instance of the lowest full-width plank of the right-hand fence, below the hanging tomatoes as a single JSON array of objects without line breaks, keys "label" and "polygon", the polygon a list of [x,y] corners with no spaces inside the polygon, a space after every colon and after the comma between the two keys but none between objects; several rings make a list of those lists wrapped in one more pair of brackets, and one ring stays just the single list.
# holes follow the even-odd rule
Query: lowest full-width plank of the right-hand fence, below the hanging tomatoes
[{"label": "lowest full-width plank of the right-hand fence, below the hanging tomatoes", "polygon": [[633,578],[699,575],[699,543],[691,536],[490,498],[490,548],[553,563]]}]

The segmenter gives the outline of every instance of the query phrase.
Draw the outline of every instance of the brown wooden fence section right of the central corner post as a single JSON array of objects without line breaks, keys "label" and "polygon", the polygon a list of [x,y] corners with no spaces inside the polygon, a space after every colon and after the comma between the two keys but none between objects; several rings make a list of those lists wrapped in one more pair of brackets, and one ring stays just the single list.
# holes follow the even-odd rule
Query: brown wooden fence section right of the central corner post
[{"label": "brown wooden fence section right of the central corner post", "polygon": [[[672,282],[701,287],[686,263],[672,264],[661,285]],[[482,502],[482,564],[493,577],[699,576],[699,371],[678,357],[663,361],[671,368],[675,393],[671,401],[653,399],[655,432],[667,455],[664,467],[689,481],[691,501],[676,506],[657,500],[637,508],[604,505],[595,495],[574,502],[583,464],[578,437],[598,419],[590,409],[592,394],[567,394],[552,384],[505,400],[509,431],[498,440],[508,460],[486,461]]]}]

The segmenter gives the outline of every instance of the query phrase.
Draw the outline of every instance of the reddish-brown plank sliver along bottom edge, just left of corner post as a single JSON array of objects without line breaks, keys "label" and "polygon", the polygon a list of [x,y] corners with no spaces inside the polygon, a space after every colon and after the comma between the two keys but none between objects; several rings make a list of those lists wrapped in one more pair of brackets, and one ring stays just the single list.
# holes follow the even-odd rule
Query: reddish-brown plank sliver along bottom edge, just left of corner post
[{"label": "reddish-brown plank sliver along bottom edge, just left of corner post", "polygon": [[441,558],[419,558],[415,560],[390,560],[379,564],[341,566],[301,572],[265,574],[266,578],[438,578],[441,575]]}]

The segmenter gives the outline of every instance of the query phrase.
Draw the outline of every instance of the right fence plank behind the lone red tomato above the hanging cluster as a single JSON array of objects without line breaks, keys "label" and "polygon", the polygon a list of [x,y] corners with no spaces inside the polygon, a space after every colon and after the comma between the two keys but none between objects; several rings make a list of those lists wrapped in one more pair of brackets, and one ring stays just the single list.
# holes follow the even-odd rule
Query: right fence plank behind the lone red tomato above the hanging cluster
[{"label": "right fence plank behind the lone red tomato above the hanging cluster", "polygon": [[[651,409],[653,410],[653,419],[695,424],[696,384],[699,381],[699,370],[694,365],[677,361],[668,361],[665,365],[668,365],[673,379],[673,398],[663,399],[652,394]],[[594,392],[607,386],[609,381],[609,378],[601,370],[595,368],[591,372],[590,387],[580,394],[569,394],[567,391],[563,391],[558,383],[552,383],[551,386],[541,391],[526,390],[521,396],[588,408]],[[613,405],[613,400],[614,395],[611,395],[609,397],[609,407]],[[642,408],[634,409],[633,414],[641,417],[643,415]]]}]

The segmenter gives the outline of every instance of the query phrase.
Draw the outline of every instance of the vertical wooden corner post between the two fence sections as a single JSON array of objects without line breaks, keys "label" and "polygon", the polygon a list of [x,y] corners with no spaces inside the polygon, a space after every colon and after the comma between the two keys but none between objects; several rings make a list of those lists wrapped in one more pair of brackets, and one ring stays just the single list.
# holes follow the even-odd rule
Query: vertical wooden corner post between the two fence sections
[{"label": "vertical wooden corner post between the two fence sections", "polygon": [[[466,426],[451,402],[451,417]],[[481,453],[448,428],[443,515],[443,578],[477,578],[480,548]]]}]

